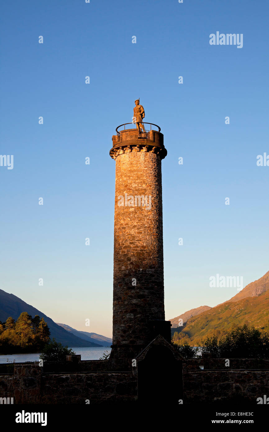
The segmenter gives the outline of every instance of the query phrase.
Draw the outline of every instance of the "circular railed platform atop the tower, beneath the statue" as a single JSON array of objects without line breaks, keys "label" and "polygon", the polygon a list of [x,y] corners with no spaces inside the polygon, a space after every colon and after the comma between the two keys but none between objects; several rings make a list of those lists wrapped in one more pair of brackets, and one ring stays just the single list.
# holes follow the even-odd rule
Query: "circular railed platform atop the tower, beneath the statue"
[{"label": "circular railed platform atop the tower, beneath the statue", "polygon": [[[133,128],[126,129],[126,125],[133,124]],[[154,123],[143,123],[145,131],[141,128],[140,130],[136,127],[135,123],[123,123],[116,127],[117,135],[113,135],[112,143],[113,147],[109,154],[112,159],[116,159],[119,154],[128,152],[153,152],[164,159],[167,155],[167,150],[164,146],[164,136],[160,132],[161,128]],[[145,125],[150,125],[149,129],[146,129]],[[122,128],[120,130],[120,128]],[[157,128],[158,130],[156,130]]]}]

